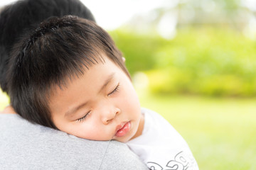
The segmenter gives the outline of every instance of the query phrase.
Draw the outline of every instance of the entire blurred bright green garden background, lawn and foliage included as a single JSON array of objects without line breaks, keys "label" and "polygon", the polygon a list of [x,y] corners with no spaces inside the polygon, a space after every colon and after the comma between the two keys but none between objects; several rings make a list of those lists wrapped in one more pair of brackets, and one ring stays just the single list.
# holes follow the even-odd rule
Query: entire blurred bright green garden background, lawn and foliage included
[{"label": "entire blurred bright green garden background, lawn and foliage included", "polygon": [[256,3],[165,3],[108,30],[142,106],[181,133],[200,169],[256,169]]}]

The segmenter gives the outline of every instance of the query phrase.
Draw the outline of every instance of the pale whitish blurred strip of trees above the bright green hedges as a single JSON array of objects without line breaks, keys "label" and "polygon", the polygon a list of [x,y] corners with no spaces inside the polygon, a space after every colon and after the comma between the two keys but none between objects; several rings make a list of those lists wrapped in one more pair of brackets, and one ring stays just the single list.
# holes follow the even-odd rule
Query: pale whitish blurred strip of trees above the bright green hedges
[{"label": "pale whitish blurred strip of trees above the bright green hedges", "polygon": [[[240,32],[256,28],[256,1],[253,0],[173,0],[134,16],[123,28],[137,33],[159,33],[172,39],[176,29],[186,26],[230,27]],[[253,32],[250,28],[250,32]],[[255,33],[245,33],[256,35]],[[252,37],[253,38],[253,37]]]}]

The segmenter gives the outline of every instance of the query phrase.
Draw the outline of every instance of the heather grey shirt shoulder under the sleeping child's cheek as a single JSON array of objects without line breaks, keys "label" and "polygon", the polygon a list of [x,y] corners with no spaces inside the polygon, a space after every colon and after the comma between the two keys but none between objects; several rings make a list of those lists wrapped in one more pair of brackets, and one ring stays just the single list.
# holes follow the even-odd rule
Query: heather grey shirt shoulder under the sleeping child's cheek
[{"label": "heather grey shirt shoulder under the sleeping child's cheek", "polygon": [[[0,114],[0,153],[0,169],[110,169],[125,161],[123,154],[138,162],[117,142],[81,139],[16,114]],[[119,158],[117,163],[113,158]],[[107,164],[109,160],[112,165]]]}]

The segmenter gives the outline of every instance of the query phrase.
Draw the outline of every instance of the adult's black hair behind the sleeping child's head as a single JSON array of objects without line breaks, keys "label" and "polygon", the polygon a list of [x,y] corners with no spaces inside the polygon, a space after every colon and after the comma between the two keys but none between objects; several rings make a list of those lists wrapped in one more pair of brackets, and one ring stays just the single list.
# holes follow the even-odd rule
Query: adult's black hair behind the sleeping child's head
[{"label": "adult's black hair behind the sleeping child's head", "polygon": [[79,0],[20,0],[4,6],[0,13],[0,86],[7,92],[6,70],[14,43],[23,32],[34,29],[50,16],[74,15],[95,21]]}]

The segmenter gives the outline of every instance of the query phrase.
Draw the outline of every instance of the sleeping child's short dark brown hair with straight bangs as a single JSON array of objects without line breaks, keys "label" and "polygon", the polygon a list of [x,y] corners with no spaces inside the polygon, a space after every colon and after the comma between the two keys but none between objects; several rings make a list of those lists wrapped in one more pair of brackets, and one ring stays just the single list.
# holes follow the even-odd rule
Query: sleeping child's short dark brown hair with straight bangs
[{"label": "sleeping child's short dark brown hair with straight bangs", "polygon": [[93,64],[104,63],[103,55],[129,77],[122,53],[96,23],[75,16],[48,19],[11,52],[11,106],[26,120],[56,128],[48,108],[53,88],[65,88],[68,80],[72,83]]}]

